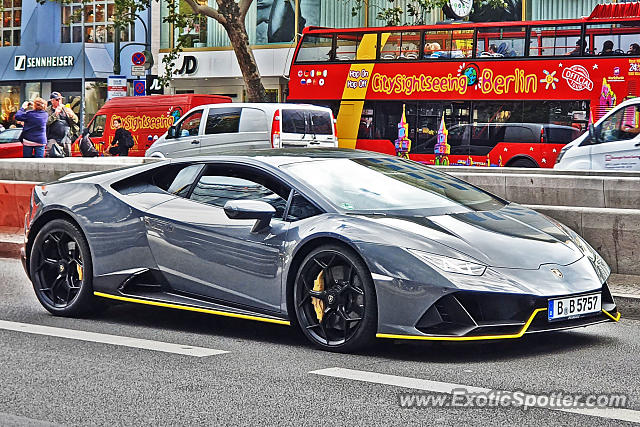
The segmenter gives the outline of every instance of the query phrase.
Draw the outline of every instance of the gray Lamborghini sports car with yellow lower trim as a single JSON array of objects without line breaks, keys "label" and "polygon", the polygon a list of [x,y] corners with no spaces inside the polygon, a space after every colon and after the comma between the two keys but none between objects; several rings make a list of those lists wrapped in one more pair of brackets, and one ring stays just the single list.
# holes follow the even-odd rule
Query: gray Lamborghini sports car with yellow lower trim
[{"label": "gray Lamborghini sports car with yellow lower trim", "polygon": [[335,351],[620,317],[609,267],[567,227],[353,150],[167,160],[39,185],[23,263],[55,315],[126,301],[295,325]]}]

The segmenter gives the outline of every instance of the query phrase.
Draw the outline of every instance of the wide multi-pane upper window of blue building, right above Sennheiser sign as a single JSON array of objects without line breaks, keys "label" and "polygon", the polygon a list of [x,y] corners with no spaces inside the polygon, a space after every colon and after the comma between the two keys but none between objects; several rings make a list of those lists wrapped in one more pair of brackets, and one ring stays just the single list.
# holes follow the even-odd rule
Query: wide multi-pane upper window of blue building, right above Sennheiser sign
[{"label": "wide multi-pane upper window of blue building, right above Sennheiser sign", "polygon": [[[63,6],[60,32],[62,43],[82,42],[83,34],[86,43],[112,43],[114,13],[114,0],[88,1]],[[83,18],[84,31],[82,28]],[[120,40],[123,42],[131,41],[134,38],[134,23],[124,27],[120,32]]]}]

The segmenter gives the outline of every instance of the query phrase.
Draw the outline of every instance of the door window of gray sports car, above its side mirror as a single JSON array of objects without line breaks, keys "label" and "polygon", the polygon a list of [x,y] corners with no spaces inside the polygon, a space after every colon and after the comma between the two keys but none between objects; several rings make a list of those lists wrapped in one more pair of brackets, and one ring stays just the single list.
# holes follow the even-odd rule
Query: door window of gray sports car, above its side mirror
[{"label": "door window of gray sports car, above its side mirror", "polygon": [[219,208],[230,200],[259,200],[274,207],[274,218],[283,219],[290,192],[288,186],[253,168],[209,165],[189,198]]}]

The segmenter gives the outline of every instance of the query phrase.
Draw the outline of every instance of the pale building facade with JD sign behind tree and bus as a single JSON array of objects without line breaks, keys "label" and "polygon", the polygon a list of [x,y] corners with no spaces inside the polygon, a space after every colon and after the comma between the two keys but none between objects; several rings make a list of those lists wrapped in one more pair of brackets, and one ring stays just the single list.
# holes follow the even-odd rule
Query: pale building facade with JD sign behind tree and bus
[{"label": "pale building facade with JD sign behind tree and bus", "polygon": [[[199,0],[215,7],[215,0]],[[247,14],[249,42],[258,64],[262,81],[271,101],[284,101],[289,65],[299,33],[305,26],[349,28],[384,26],[378,12],[389,6],[403,9],[402,22],[436,23],[444,19],[442,11],[433,10],[420,17],[407,16],[411,0],[368,0],[358,13],[352,13],[356,3],[349,0],[254,0]],[[480,20],[547,20],[576,18],[588,15],[598,0],[509,0],[508,8],[496,14],[487,10],[474,11],[471,18]],[[159,58],[162,58],[179,38],[185,49],[176,62],[179,73],[172,77],[166,93],[206,93],[228,95],[236,101],[246,100],[242,74],[223,27],[212,18],[200,16],[190,28],[175,28],[160,23],[168,13],[161,0],[154,16],[154,28],[159,31]],[[192,13],[188,4],[179,3],[181,12]],[[154,34],[154,39],[157,35]],[[158,61],[160,62],[160,61]],[[159,70],[162,73],[162,70]]]}]

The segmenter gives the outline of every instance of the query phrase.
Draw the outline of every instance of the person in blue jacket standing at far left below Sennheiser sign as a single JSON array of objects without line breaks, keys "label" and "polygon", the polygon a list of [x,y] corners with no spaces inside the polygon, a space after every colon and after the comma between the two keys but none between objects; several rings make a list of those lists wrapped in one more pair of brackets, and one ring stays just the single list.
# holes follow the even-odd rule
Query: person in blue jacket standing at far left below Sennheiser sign
[{"label": "person in blue jacket standing at far left below Sennheiser sign", "polygon": [[[33,104],[33,109],[28,109]],[[33,103],[25,101],[22,108],[16,113],[16,120],[24,122],[22,134],[22,157],[44,157],[44,148],[47,146],[47,119],[49,114],[45,111],[47,102],[42,98],[36,98]]]}]

